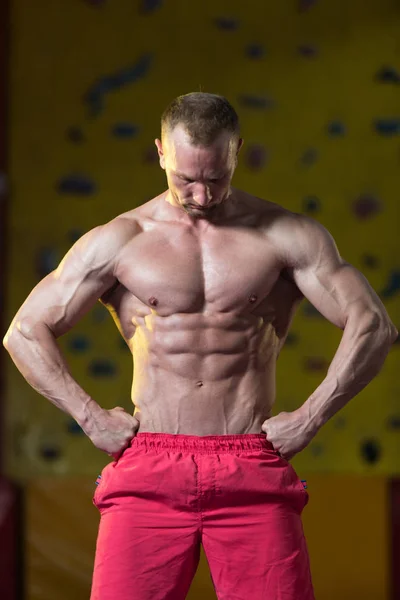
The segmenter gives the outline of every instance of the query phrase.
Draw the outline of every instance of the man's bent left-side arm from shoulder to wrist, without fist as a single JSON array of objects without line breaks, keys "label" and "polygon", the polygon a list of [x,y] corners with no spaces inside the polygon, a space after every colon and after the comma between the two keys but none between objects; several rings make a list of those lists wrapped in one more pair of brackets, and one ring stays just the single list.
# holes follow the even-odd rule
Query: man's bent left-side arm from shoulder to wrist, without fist
[{"label": "man's bent left-side arm from shoulder to wrist, without fist", "polygon": [[26,381],[70,414],[89,436],[104,411],[71,376],[56,338],[69,331],[114,284],[116,260],[129,237],[132,225],[124,219],[82,236],[58,268],[32,290],[3,340]]}]

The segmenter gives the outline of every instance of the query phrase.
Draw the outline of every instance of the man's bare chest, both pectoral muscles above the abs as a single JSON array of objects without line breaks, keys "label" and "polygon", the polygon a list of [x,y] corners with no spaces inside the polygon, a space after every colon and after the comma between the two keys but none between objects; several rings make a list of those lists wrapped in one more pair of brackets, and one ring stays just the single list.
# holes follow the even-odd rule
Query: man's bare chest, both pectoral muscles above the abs
[{"label": "man's bare chest, both pectoral muscles above the abs", "polygon": [[118,279],[160,315],[255,308],[280,265],[264,234],[244,228],[204,235],[171,228],[139,234],[121,257]]}]

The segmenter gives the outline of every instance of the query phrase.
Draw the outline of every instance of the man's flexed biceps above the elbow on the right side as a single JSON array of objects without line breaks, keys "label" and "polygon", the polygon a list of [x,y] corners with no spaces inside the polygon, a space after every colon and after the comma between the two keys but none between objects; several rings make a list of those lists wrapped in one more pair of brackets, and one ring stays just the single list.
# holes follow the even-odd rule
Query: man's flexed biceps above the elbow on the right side
[{"label": "man's flexed biceps above the elbow on the right side", "polygon": [[341,329],[351,314],[361,316],[365,312],[385,310],[366,278],[348,263],[340,264],[333,271],[309,269],[293,275],[304,296]]}]

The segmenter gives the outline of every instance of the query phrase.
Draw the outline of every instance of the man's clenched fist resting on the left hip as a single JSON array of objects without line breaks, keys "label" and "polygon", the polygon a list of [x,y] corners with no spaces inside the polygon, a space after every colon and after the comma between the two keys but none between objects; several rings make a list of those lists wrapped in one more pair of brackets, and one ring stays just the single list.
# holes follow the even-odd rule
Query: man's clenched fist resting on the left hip
[{"label": "man's clenched fist resting on the left hip", "polygon": [[139,429],[139,421],[117,406],[96,414],[87,434],[99,450],[118,460]]}]

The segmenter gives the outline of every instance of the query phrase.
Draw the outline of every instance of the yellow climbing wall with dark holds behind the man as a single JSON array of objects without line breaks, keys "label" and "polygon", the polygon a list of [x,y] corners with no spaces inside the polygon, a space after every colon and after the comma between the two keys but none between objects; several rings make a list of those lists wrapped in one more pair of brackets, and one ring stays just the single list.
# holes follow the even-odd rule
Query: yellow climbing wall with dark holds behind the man
[{"label": "yellow climbing wall with dark holds behind the man", "polygon": [[[153,143],[177,95],[237,108],[235,185],[315,217],[400,322],[400,72],[396,0],[15,0],[11,68],[8,316],[82,233],[165,189]],[[325,376],[341,332],[307,302],[278,365],[276,412]],[[96,306],[60,340],[102,406],[132,411],[132,362]],[[399,348],[295,465],[400,472]],[[97,476],[107,462],[78,425],[7,366],[8,471]],[[84,460],[82,460],[84,457]]]}]

